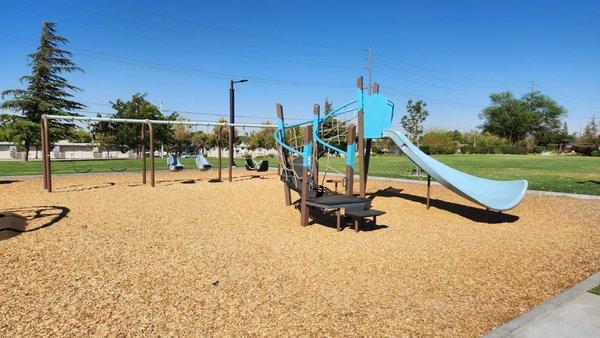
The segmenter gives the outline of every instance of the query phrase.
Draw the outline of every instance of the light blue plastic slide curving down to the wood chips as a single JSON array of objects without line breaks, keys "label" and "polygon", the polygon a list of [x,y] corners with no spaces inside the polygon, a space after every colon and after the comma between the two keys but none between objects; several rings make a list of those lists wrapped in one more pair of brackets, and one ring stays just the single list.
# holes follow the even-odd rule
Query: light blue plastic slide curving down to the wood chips
[{"label": "light blue plastic slide curving down to the wood chips", "polygon": [[495,181],[453,169],[422,152],[399,131],[385,129],[382,136],[392,139],[406,156],[441,185],[488,209],[510,210],[523,200],[527,191],[525,180]]}]

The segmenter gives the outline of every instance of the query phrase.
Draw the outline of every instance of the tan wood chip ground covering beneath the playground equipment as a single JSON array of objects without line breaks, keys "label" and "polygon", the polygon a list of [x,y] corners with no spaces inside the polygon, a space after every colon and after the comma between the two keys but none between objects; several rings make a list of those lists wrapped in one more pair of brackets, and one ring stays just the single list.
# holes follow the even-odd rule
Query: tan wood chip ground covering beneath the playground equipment
[{"label": "tan wood chip ground covering beneath the playground equipment", "polygon": [[0,231],[0,336],[478,336],[600,270],[600,200],[498,215],[434,185],[426,210],[424,185],[373,180],[380,227],[337,232],[234,173],[0,184],[0,228],[43,227]]}]

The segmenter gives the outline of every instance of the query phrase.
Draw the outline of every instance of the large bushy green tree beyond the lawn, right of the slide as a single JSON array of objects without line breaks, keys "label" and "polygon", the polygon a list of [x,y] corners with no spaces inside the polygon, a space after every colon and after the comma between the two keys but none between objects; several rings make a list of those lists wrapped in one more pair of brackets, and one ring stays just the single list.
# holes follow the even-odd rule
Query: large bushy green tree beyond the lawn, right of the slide
[{"label": "large bushy green tree beyond the lawn, right of the slide", "polygon": [[479,115],[484,132],[506,138],[511,145],[533,135],[540,144],[561,139],[561,118],[565,108],[540,92],[517,99],[510,92],[490,95],[491,105]]}]

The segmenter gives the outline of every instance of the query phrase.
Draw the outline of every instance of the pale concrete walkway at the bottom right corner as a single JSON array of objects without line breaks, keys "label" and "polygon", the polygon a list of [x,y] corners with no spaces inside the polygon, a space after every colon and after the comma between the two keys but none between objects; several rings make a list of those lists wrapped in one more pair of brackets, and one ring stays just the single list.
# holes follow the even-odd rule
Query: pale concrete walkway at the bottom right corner
[{"label": "pale concrete walkway at the bottom right corner", "polygon": [[484,337],[600,337],[600,296],[587,292],[598,284],[600,272]]}]

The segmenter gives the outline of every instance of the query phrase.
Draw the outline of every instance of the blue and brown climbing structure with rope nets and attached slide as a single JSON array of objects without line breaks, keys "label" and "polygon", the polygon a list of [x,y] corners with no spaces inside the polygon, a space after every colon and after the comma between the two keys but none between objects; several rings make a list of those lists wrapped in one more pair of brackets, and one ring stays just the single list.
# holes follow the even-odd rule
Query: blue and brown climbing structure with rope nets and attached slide
[{"label": "blue and brown climbing structure with rope nets and attached slide", "polygon": [[[336,210],[338,230],[341,230],[342,210],[345,211],[346,216],[351,216],[355,220],[357,231],[358,222],[366,217],[373,217],[375,222],[376,217],[384,213],[371,209],[371,200],[366,197],[372,140],[384,137],[396,143],[411,161],[427,173],[427,208],[430,207],[432,178],[487,210],[498,212],[510,210],[522,201],[527,191],[527,181],[496,181],[472,176],[426,155],[403,133],[391,129],[394,103],[379,93],[379,85],[375,83],[370,94],[364,92],[362,77],[357,79],[356,85],[358,87],[356,100],[326,112],[323,116],[320,107],[314,105],[313,119],[294,125],[285,124],[283,106],[276,105],[279,120],[274,137],[279,147],[278,159],[282,168],[280,178],[284,182],[285,203],[292,204],[291,190],[300,194],[302,226],[308,225],[310,207]],[[356,115],[340,123],[340,117],[348,113]],[[333,145],[325,137],[332,126],[346,129],[345,149],[342,149],[339,140],[337,145]],[[301,142],[297,137],[298,128],[302,130]],[[338,130],[336,134],[338,138],[339,134]],[[358,139],[358,148],[356,139]],[[320,158],[324,154],[329,156],[331,152],[346,158],[346,170],[342,174],[344,194],[329,191],[319,184],[319,166],[323,164]],[[358,154],[359,167],[358,196],[354,195],[356,154]],[[326,174],[327,172],[323,175],[323,181]]]}]

